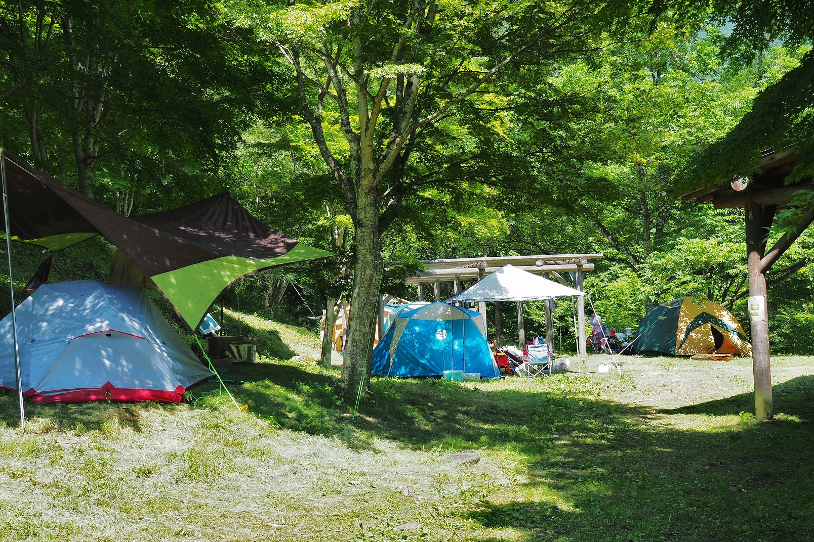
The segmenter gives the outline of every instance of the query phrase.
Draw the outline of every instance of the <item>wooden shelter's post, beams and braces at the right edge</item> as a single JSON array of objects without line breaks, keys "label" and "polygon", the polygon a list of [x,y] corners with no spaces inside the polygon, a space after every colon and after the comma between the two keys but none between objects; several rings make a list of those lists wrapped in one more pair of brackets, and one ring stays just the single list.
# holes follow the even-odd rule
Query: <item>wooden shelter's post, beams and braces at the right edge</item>
[{"label": "wooden shelter's post, beams and braces at the right edge", "polygon": [[[788,176],[799,164],[794,148],[764,150],[758,171],[751,179],[733,180],[700,189],[684,196],[701,203],[712,203],[716,209],[744,211],[746,227],[746,262],[749,279],[749,312],[751,319],[752,373],[755,379],[755,417],[772,418],[772,371],[768,344],[768,310],[766,273],[814,222],[814,207],[804,211],[793,231],[784,233],[767,249],[769,228],[777,210],[787,206],[801,191],[814,191],[810,177],[788,183]],[[786,275],[803,267],[798,263],[786,269]]]}]

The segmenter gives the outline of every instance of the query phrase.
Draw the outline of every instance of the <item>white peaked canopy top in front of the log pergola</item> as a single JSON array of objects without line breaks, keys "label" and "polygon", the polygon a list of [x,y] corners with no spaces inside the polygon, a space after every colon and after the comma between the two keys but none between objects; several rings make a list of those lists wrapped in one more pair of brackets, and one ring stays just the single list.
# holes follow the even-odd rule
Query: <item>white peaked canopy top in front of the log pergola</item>
[{"label": "white peaked canopy top in front of the log pergola", "polygon": [[506,264],[447,301],[539,301],[584,295],[580,290]]}]

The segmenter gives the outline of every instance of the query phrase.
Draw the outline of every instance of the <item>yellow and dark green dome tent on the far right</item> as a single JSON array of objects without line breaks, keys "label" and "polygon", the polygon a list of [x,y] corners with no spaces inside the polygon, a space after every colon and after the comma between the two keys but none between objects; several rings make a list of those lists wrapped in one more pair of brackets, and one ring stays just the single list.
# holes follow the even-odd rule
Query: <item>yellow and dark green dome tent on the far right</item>
[{"label": "yellow and dark green dome tent on the far right", "polygon": [[698,353],[752,355],[741,324],[729,310],[694,297],[674,299],[650,310],[632,342],[637,353],[693,356]]}]

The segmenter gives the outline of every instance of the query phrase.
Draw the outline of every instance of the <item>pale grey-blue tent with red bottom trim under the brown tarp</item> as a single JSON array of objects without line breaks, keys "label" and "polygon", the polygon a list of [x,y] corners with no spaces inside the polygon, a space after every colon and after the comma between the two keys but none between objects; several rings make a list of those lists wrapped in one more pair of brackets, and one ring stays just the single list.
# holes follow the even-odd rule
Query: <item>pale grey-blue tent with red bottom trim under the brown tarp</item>
[{"label": "pale grey-blue tent with red bottom trim under the brown tarp", "polygon": [[[142,288],[43,284],[15,314],[20,389],[32,401],[179,402],[212,376]],[[17,388],[11,314],[0,321],[0,388]]]}]

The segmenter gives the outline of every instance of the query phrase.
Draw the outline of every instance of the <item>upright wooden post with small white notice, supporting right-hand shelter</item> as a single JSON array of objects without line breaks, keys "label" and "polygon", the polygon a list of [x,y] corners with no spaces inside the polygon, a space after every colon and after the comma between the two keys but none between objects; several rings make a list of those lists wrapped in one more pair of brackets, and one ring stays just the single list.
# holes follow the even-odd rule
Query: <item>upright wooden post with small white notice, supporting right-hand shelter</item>
[{"label": "upright wooden post with small white notice, supporting right-hand shelter", "polygon": [[761,258],[766,251],[766,228],[772,225],[776,207],[748,202],[746,215],[746,263],[749,273],[749,312],[752,339],[752,374],[755,379],[755,418],[772,418],[772,366],[768,349],[766,276]]}]

